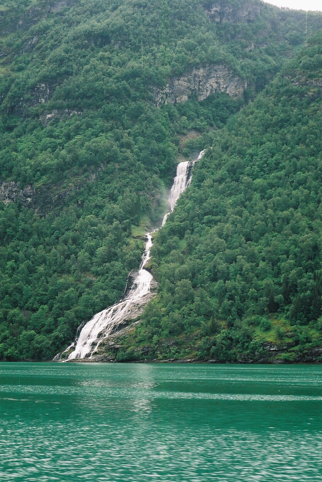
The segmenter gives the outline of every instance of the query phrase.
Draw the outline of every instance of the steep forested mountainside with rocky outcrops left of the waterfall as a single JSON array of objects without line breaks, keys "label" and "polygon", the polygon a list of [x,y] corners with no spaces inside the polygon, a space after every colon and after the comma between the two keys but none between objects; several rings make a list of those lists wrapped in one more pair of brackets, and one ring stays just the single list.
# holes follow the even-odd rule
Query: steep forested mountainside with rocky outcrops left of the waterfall
[{"label": "steep forested mountainside with rocky outcrops left of the waterfall", "polygon": [[[162,218],[180,135],[209,142],[304,22],[255,0],[1,3],[1,359],[51,358],[117,300]],[[309,13],[310,31],[320,22]]]}]

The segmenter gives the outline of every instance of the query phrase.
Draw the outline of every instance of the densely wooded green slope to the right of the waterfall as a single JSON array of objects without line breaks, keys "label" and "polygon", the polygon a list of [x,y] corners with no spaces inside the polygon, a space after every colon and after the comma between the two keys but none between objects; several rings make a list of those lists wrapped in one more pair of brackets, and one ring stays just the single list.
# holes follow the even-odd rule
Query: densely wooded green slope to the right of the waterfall
[{"label": "densely wooded green slope to the right of the waterfall", "polygon": [[213,135],[155,236],[159,295],[123,359],[148,341],[153,358],[321,355],[321,59],[322,31]]}]

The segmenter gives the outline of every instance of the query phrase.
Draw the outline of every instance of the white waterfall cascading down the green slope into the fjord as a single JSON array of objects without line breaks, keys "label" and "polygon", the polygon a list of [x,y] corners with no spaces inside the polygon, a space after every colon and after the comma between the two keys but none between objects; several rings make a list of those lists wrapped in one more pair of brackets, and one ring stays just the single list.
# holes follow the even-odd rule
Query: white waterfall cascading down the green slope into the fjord
[{"label": "white waterfall cascading down the green slope into the fjord", "polygon": [[[171,212],[173,211],[180,194],[191,183],[191,172],[194,163],[199,161],[204,153],[204,150],[201,151],[195,161],[185,161],[178,164],[177,174],[168,198]],[[162,226],[165,224],[168,214],[170,213],[167,213],[164,216]],[[141,266],[126,298],[118,301],[110,308],[103,309],[103,311],[94,315],[86,324],[83,322],[77,329],[76,340],[62,353],[58,353],[53,359],[54,362],[61,361],[62,358],[64,358],[62,357],[63,353],[69,352],[72,348],[75,348],[74,351],[66,356],[65,361],[74,360],[76,358],[91,358],[101,341],[110,335],[117,325],[126,320],[131,308],[138,304],[140,300],[142,301],[142,298],[145,295],[150,293],[153,276],[149,271],[144,269],[144,266],[150,259],[150,251],[153,245],[153,232],[145,234],[147,241],[142,255]]]}]

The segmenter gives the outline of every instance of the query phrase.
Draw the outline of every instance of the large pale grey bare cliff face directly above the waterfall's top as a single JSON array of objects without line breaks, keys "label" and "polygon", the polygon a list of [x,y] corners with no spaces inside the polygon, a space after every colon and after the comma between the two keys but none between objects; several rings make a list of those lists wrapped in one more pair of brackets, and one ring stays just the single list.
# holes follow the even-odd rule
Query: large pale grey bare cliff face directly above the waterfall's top
[{"label": "large pale grey bare cliff face directly above the waterfall's top", "polygon": [[172,78],[164,89],[155,89],[155,106],[184,103],[191,94],[195,94],[198,101],[201,101],[217,91],[239,97],[243,95],[246,87],[245,80],[234,74],[227,66],[193,67],[187,75],[179,79]]}]

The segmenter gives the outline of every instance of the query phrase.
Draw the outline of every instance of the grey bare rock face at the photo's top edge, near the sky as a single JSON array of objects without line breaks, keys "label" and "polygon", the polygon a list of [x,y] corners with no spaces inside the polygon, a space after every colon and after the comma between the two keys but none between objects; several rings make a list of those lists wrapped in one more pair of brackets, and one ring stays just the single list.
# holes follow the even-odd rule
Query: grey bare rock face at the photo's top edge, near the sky
[{"label": "grey bare rock face at the photo's top edge, near the sky", "polygon": [[260,15],[260,3],[245,1],[242,6],[227,1],[208,2],[206,13],[212,22],[252,22]]}]

